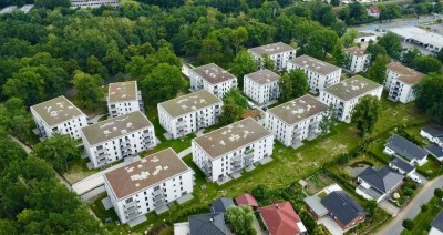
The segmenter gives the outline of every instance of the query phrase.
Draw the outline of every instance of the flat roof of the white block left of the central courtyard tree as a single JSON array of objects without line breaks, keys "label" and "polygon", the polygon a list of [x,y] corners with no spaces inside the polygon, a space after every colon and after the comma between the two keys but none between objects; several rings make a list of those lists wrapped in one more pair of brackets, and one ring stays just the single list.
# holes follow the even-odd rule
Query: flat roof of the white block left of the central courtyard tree
[{"label": "flat roof of the white block left of the central courtyard tree", "polygon": [[206,90],[200,90],[165,101],[158,105],[171,116],[176,117],[216,103],[222,103],[222,100]]}]

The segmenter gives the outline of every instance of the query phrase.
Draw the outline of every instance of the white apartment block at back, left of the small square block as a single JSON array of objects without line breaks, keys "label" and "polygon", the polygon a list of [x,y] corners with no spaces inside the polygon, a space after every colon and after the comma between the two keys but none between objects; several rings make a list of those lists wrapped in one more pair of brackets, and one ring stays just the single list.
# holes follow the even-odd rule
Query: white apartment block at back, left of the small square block
[{"label": "white apartment block at back, left of the small square block", "polygon": [[190,70],[189,81],[192,90],[206,90],[219,99],[237,86],[237,78],[215,63]]}]

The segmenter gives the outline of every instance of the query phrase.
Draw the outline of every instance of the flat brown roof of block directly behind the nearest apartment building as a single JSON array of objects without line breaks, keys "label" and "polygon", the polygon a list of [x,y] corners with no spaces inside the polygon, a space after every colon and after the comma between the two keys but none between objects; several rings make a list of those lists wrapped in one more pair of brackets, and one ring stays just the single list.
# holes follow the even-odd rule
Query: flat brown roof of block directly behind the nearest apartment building
[{"label": "flat brown roof of block directly behind the nearest apartment building", "polygon": [[90,145],[95,145],[151,125],[142,112],[135,111],[85,126],[82,132]]}]

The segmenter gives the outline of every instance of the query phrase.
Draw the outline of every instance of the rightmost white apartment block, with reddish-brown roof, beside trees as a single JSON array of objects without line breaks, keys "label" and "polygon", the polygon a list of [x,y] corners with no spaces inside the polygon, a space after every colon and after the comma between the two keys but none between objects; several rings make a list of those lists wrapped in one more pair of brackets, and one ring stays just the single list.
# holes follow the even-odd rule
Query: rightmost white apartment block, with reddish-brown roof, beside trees
[{"label": "rightmost white apartment block, with reddish-brown roof, beside trees", "polygon": [[394,102],[408,103],[415,100],[412,88],[425,75],[399,62],[388,64],[384,88],[389,90],[388,99]]}]

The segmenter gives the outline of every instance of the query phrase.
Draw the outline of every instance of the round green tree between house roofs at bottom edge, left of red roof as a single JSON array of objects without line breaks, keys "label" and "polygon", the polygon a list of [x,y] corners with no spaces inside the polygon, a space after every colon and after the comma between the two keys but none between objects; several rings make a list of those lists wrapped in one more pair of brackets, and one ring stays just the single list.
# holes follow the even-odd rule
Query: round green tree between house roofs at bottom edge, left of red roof
[{"label": "round green tree between house roofs at bottom edge, left of red roof", "polygon": [[226,211],[226,221],[230,229],[238,235],[253,233],[254,213],[250,206],[229,206]]}]

